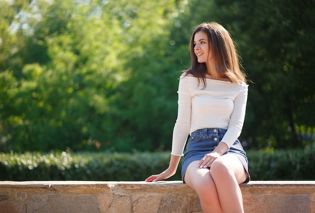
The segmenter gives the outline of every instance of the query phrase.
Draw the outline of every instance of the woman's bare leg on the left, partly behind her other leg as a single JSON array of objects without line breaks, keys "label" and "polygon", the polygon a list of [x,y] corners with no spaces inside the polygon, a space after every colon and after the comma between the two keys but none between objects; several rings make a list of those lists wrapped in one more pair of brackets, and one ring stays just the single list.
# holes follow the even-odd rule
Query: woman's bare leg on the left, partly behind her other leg
[{"label": "woman's bare leg on the left, partly behind her other leg", "polygon": [[203,213],[222,213],[215,183],[209,169],[197,167],[199,161],[192,162],[185,173],[184,180],[199,196]]}]

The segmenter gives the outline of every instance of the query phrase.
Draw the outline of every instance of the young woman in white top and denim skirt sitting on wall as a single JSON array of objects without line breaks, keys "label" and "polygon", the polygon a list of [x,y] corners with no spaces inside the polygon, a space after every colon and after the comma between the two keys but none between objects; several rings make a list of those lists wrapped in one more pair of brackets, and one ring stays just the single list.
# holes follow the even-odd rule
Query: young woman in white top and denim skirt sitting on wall
[{"label": "young woman in white top and denim skirt sitting on wall", "polygon": [[230,34],[203,23],[190,41],[191,68],[180,78],[178,117],[169,168],[145,181],[167,179],[182,163],[184,183],[197,192],[206,212],[244,212],[239,184],[248,182],[248,159],[238,140],[248,85]]}]

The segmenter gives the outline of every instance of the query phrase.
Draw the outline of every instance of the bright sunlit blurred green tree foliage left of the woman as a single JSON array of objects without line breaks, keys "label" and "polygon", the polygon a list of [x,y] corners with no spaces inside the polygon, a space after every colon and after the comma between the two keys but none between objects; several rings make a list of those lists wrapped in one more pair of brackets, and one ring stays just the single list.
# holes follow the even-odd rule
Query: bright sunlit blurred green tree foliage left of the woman
[{"label": "bright sunlit blurred green tree foliage left of the woman", "polygon": [[170,136],[174,123],[164,118],[176,116],[176,71],[165,64],[176,7],[68,0],[24,8],[25,17],[14,19],[20,46],[12,58],[19,63],[0,76],[2,148],[130,151],[170,144],[160,142],[159,127]]}]

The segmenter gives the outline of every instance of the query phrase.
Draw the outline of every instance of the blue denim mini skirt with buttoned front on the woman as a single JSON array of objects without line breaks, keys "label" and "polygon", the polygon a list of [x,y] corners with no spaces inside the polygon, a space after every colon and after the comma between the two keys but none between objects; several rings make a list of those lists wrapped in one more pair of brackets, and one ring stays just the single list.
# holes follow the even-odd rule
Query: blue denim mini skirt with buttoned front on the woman
[{"label": "blue denim mini skirt with buttoned front on the woman", "polygon": [[[184,183],[184,175],[188,165],[194,161],[200,161],[206,154],[212,152],[223,138],[225,132],[226,129],[221,128],[204,128],[191,133],[182,162],[182,179]],[[225,154],[232,154],[240,159],[247,175],[245,183],[249,182],[248,159],[239,139],[235,140],[234,144],[223,155]]]}]

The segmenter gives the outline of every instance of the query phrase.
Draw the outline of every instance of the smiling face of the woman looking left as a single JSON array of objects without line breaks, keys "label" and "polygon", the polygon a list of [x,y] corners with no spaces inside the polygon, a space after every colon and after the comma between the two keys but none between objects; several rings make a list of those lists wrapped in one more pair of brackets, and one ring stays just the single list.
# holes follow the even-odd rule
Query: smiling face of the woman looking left
[{"label": "smiling face of the woman looking left", "polygon": [[195,34],[194,52],[199,63],[208,62],[212,58],[212,51],[209,49],[208,36],[203,31],[199,31]]}]

